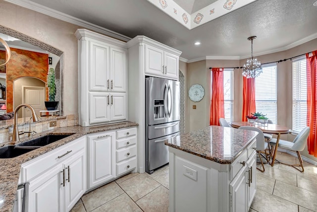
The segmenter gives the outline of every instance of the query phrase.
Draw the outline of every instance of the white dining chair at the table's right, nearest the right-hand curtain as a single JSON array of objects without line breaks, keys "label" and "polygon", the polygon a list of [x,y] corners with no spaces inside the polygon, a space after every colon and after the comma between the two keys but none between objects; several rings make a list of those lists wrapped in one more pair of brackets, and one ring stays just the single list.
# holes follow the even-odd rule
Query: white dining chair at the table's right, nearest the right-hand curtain
[{"label": "white dining chair at the table's right, nearest the right-hand curtain", "polygon": [[[300,164],[287,164],[287,163],[284,163],[284,164],[293,166],[294,168],[298,169],[301,172],[304,172],[304,166],[303,166],[303,159],[301,157],[300,152],[305,149],[305,146],[307,144],[307,139],[308,139],[308,136],[309,136],[309,131],[310,131],[310,128],[309,127],[305,127],[295,137],[293,142],[279,139],[278,146],[277,146],[279,148],[283,148],[283,149],[286,149],[286,150],[296,151],[297,157],[299,159]],[[270,140],[269,144],[271,146],[275,146],[275,148],[276,148],[276,138],[272,138]],[[272,150],[273,150],[273,148],[272,148]],[[301,166],[302,170],[297,168],[297,167],[295,167],[295,166]]]}]

